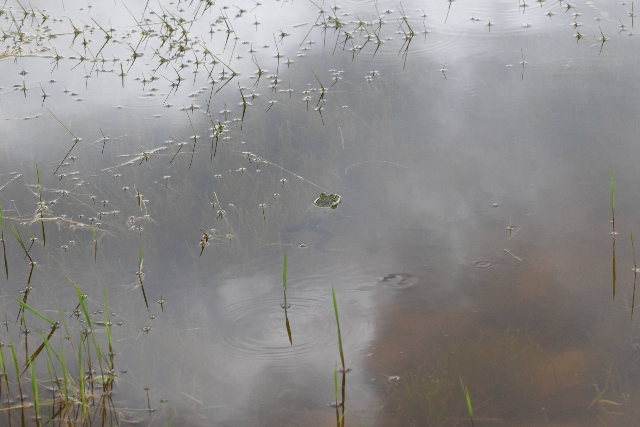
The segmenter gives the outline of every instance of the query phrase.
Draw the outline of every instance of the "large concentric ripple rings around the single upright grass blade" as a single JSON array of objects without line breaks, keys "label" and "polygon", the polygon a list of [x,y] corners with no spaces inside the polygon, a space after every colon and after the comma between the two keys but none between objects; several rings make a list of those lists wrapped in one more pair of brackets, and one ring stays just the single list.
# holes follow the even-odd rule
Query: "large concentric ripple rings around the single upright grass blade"
[{"label": "large concentric ripple rings around the single upright grass blade", "polygon": [[[282,287],[262,291],[251,298],[230,303],[221,308],[225,351],[234,357],[248,357],[269,364],[300,366],[305,360],[335,353],[337,330],[331,287],[335,277],[308,277],[287,286],[287,316],[293,344],[289,344],[282,309]],[[353,294],[336,289],[340,314],[342,342],[349,347],[367,341],[372,333],[372,319],[367,305]],[[358,295],[358,298],[365,298]],[[294,362],[294,363],[293,363]]]}]

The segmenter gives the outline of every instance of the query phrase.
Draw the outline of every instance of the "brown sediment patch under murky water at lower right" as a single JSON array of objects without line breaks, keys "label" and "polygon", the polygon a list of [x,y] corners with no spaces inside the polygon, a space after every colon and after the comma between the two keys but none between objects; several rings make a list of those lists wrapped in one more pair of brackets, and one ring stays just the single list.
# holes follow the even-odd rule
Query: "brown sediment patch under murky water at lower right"
[{"label": "brown sediment patch under murky water at lower right", "polygon": [[486,419],[481,425],[546,426],[545,417],[554,426],[596,425],[584,411],[594,398],[592,378],[601,376],[600,355],[569,335],[580,316],[561,282],[567,271],[550,254],[519,254],[525,262],[461,277],[467,295],[445,307],[413,299],[379,310],[367,370],[403,377],[388,390],[386,425],[463,422],[459,375],[474,416]]}]

